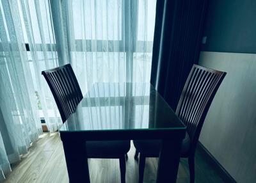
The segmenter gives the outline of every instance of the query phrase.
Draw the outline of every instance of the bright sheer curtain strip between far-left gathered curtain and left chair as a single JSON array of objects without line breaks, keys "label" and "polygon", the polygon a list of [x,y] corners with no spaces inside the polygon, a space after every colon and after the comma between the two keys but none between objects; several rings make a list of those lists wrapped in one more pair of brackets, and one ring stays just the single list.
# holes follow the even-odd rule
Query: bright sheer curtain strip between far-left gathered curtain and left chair
[{"label": "bright sheer curtain strip between far-left gathered curtain and left chair", "polygon": [[[17,1],[17,0],[16,0]],[[29,45],[29,67],[38,95],[40,118],[44,118],[50,132],[62,124],[51,90],[42,77],[42,70],[58,67],[58,55],[48,0],[18,0],[22,31]]]}]

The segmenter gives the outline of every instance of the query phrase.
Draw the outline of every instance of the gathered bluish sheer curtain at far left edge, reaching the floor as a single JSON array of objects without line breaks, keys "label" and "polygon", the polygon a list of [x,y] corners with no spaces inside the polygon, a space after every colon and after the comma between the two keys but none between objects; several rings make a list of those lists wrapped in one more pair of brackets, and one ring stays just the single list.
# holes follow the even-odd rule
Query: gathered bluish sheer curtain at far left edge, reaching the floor
[{"label": "gathered bluish sheer curtain at far left edge, reaching the floor", "polygon": [[42,133],[35,88],[29,69],[17,1],[1,1],[0,8],[0,170],[26,154]]}]

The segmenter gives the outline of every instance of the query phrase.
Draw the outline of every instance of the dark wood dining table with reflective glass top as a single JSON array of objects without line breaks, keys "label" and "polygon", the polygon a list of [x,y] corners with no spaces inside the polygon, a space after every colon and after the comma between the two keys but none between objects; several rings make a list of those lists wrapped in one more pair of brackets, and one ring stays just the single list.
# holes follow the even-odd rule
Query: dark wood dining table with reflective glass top
[{"label": "dark wood dining table with reflective glass top", "polygon": [[185,132],[151,84],[95,83],[60,129],[69,180],[90,182],[86,141],[161,139],[156,182],[176,182]]}]

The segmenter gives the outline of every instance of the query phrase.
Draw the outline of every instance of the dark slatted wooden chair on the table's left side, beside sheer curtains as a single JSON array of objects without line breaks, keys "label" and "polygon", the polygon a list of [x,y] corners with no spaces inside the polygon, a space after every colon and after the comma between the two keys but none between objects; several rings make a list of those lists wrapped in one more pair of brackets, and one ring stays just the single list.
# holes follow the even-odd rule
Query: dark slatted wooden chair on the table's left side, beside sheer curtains
[{"label": "dark slatted wooden chair on the table's left side, beside sheer curtains", "polygon": [[[74,113],[83,95],[70,64],[42,71],[64,123]],[[121,182],[125,182],[125,160],[131,143],[125,141],[86,141],[88,158],[119,159]]]}]

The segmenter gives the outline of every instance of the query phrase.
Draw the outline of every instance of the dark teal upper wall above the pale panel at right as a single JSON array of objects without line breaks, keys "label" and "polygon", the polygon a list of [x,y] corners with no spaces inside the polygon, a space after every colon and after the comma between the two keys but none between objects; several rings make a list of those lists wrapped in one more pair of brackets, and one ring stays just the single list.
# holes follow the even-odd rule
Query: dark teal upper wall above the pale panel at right
[{"label": "dark teal upper wall above the pale panel at right", "polygon": [[209,0],[202,51],[256,53],[256,1]]}]

